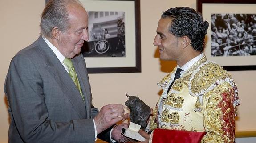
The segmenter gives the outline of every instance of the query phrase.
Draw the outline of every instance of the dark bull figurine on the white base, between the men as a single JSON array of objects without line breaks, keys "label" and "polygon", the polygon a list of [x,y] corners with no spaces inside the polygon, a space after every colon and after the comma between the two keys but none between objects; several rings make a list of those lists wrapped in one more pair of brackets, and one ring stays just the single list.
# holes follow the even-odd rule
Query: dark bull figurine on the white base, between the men
[{"label": "dark bull figurine on the white base, between the men", "polygon": [[141,125],[141,129],[145,129],[151,112],[150,107],[136,96],[129,96],[127,93],[126,96],[129,97],[125,105],[130,109],[130,121]]}]

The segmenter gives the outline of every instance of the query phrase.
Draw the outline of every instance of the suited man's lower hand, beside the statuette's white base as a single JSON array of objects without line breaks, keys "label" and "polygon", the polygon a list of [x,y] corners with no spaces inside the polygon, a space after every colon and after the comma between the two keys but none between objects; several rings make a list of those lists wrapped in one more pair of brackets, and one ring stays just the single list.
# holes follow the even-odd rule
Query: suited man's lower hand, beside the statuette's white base
[{"label": "suited man's lower hand, beside the statuette's white base", "polygon": [[122,127],[128,128],[127,123],[119,124],[113,128],[111,138],[117,141],[118,143],[128,142],[130,141],[124,135],[121,134]]}]

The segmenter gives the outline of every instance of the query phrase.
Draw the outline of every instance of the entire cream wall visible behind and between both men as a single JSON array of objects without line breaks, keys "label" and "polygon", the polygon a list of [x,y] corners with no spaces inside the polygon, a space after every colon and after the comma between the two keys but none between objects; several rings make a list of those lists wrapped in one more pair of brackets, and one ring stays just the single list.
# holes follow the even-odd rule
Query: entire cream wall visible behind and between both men
[{"label": "entire cream wall visible behind and between both men", "polygon": [[[0,0],[0,143],[8,142],[8,112],[3,91],[9,62],[20,49],[39,35],[40,15],[45,0]],[[141,0],[142,73],[89,74],[93,104],[101,108],[110,103],[124,104],[125,92],[138,95],[154,108],[160,88],[156,83],[166,74],[167,62],[160,62],[153,39],[160,15],[171,7],[195,8],[196,0]],[[164,68],[161,66],[163,65]],[[174,64],[171,67],[175,66]],[[163,71],[165,72],[163,72]],[[256,131],[255,71],[231,72],[239,88],[241,106],[236,125],[238,131]]]}]

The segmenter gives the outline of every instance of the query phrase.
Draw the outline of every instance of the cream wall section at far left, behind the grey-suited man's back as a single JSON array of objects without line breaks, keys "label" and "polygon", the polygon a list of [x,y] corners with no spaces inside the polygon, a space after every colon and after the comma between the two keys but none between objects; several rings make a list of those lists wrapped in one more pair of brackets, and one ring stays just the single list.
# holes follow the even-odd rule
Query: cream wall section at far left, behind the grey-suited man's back
[{"label": "cream wall section at far left, behind the grey-suited man's back", "polygon": [[4,80],[12,57],[39,35],[44,0],[0,0],[0,143],[8,143]]}]

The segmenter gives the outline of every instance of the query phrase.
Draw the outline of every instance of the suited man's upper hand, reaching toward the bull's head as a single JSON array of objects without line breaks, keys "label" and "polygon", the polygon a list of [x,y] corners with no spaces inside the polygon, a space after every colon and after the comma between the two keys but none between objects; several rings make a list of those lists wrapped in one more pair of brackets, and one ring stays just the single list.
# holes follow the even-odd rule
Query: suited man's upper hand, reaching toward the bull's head
[{"label": "suited man's upper hand, reaching toward the bull's head", "polygon": [[124,106],[121,104],[109,104],[103,106],[100,112],[94,117],[97,134],[106,130],[113,124],[124,119]]}]

